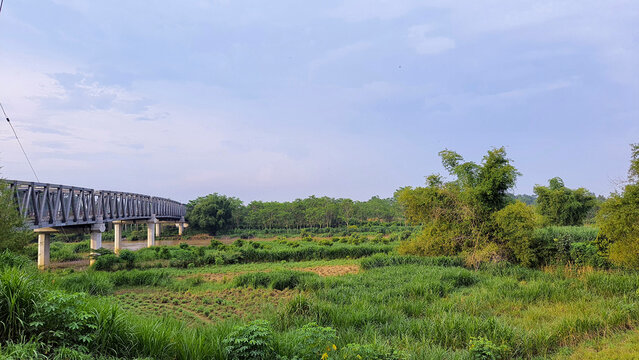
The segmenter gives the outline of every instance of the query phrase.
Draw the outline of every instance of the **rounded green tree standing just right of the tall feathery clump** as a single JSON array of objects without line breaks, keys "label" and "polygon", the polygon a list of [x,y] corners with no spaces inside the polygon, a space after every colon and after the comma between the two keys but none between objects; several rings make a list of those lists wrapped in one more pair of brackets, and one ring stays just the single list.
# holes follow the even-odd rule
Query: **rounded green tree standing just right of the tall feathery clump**
[{"label": "rounded green tree standing just right of the tall feathery clump", "polygon": [[569,189],[558,177],[550,179],[549,186],[535,186],[534,192],[537,211],[552,225],[583,225],[588,213],[597,205],[593,193],[584,188]]}]

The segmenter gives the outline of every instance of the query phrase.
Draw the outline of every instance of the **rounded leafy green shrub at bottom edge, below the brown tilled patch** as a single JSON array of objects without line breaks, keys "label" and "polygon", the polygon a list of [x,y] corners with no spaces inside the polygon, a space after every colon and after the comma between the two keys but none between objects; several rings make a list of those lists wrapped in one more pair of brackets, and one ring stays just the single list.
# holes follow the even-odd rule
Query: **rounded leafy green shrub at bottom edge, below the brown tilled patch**
[{"label": "rounded leafy green shrub at bottom edge, below the brown tilled patch", "polygon": [[231,360],[267,360],[275,358],[273,333],[264,320],[236,326],[223,341],[226,355]]}]

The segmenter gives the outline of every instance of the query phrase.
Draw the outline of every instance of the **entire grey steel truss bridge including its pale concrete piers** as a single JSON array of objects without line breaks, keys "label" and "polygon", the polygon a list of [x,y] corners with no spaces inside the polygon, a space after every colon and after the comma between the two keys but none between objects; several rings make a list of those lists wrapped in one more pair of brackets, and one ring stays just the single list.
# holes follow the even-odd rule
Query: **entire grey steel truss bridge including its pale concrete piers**
[{"label": "entire grey steel truss bridge including its pale concrete piers", "polygon": [[[7,180],[26,225],[38,233],[38,266],[49,265],[49,235],[58,231],[91,233],[91,249],[102,247],[105,224],[112,223],[115,251],[120,250],[122,224],[148,225],[147,245],[155,245],[161,224],[173,223],[182,235],[186,206],[177,201],[121,191]],[[93,259],[94,257],[92,257]]]}]

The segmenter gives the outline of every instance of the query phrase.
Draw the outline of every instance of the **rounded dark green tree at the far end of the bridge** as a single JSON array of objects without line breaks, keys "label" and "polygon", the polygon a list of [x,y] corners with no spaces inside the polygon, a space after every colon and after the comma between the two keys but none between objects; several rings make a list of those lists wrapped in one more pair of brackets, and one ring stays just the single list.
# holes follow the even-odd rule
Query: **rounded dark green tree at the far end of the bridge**
[{"label": "rounded dark green tree at the far end of the bridge", "polygon": [[218,193],[189,201],[186,219],[195,228],[216,234],[233,226],[233,214],[241,201]]}]

